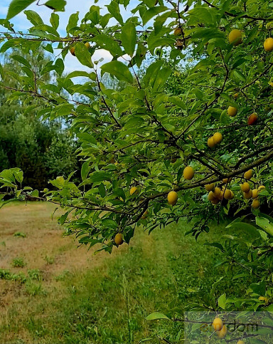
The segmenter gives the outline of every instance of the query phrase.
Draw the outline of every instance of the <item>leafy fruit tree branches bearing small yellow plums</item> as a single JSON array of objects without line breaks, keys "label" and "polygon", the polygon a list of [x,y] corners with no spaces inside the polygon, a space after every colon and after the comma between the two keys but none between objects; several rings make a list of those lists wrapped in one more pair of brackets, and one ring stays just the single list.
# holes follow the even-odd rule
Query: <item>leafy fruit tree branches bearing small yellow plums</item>
[{"label": "leafy fruit tree branches bearing small yellow plums", "polygon": [[[1,24],[9,29],[8,19],[31,2],[12,1]],[[50,4],[63,10],[65,1]],[[38,117],[69,120],[85,160],[80,183],[71,182],[71,175],[58,177],[51,181],[55,189],[42,196],[65,208],[59,221],[68,234],[109,252],[122,240],[129,244],[140,224],[151,232],[187,217],[195,222],[187,234],[198,238],[215,221],[243,213],[230,224],[234,235],[222,243],[215,238],[211,245],[225,254],[221,264],[227,271],[237,278],[253,274],[257,283],[241,298],[224,293],[192,308],[271,310],[272,2],[143,0],[127,21],[121,6],[132,8],[134,1],[112,0],[107,14],[91,6],[81,21],[72,14],[65,37],[58,33],[55,11],[50,26],[36,12],[25,11],[32,38],[17,37],[12,29],[2,37],[1,53],[15,46],[28,54],[43,42],[48,52],[61,53],[41,71],[55,71],[55,83],[39,78],[22,56],[17,61],[26,75],[12,75],[20,85],[13,99],[28,95]],[[102,48],[112,61],[99,68],[92,55]],[[69,51],[88,72],[63,74]],[[190,68],[180,75],[172,66],[178,69],[189,58],[187,51]],[[148,57],[152,63],[139,73]],[[124,87],[105,87],[105,73]],[[86,82],[73,82],[78,76]],[[4,73],[1,77],[5,87]],[[179,83],[173,83],[176,78]],[[20,189],[21,179],[20,170],[0,174],[16,197],[37,197],[36,191]],[[209,196],[208,184],[213,184]],[[177,194],[167,202],[171,191]],[[249,234],[247,240],[240,229]]]}]

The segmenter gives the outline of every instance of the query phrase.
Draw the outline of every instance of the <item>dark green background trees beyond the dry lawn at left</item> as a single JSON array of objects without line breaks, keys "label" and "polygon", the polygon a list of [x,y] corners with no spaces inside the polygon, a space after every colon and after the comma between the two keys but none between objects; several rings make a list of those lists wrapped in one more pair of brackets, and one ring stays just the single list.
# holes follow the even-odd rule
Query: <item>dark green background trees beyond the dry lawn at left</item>
[{"label": "dark green background trees beyond the dry lawn at left", "polygon": [[[5,75],[14,75],[14,71],[20,73],[17,53],[14,51],[5,56]],[[36,66],[36,73],[40,74],[48,61],[43,51],[39,54],[40,61],[36,60],[36,56],[33,53],[26,58]],[[50,82],[54,75],[47,75],[43,79]],[[77,142],[65,129],[67,125],[63,120],[50,122],[38,118],[36,111],[31,110],[31,99],[11,100],[10,88],[18,87],[14,78],[7,80],[5,86],[0,94],[0,170],[20,167],[24,174],[23,186],[43,190],[48,187],[49,179],[59,175],[68,177],[80,167],[75,153]]]}]

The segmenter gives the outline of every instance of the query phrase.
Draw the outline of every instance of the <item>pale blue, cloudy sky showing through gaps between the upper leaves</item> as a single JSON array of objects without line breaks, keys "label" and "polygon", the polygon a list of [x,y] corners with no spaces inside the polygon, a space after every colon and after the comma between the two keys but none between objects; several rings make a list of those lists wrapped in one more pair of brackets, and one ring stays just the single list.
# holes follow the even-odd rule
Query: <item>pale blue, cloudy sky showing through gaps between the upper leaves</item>
[{"label": "pale blue, cloudy sky showing through gaps between the upper leaves", "polygon": [[[11,3],[11,0],[0,0],[0,19],[5,19],[6,14],[9,8],[9,4]],[[31,6],[28,6],[27,9],[31,9],[33,11],[36,11],[41,18],[43,19],[43,22],[45,24],[49,24],[50,15],[52,13],[52,10],[48,9],[46,6],[37,6],[36,2],[33,2]],[[45,2],[45,1],[44,1]],[[43,1],[41,1],[43,3]],[[96,6],[100,6],[102,8],[101,12],[107,13],[107,9],[105,8],[105,5],[109,4],[109,0],[99,0]],[[58,32],[61,36],[66,36],[65,27],[68,24],[68,19],[71,14],[76,13],[77,11],[80,12],[79,17],[82,19],[82,17],[89,11],[90,6],[94,5],[94,1],[90,0],[67,0],[67,4],[65,6],[65,12],[57,12],[60,16],[60,26],[58,28]],[[137,0],[133,0],[131,4],[131,9],[137,6]],[[129,18],[131,16],[131,12],[129,11],[129,7],[127,8],[127,11],[124,9],[123,6],[120,6],[120,11],[124,19]],[[26,15],[18,14],[13,19],[11,19],[11,23],[14,24],[15,31],[23,31],[26,32],[28,28],[32,26],[32,24],[26,19]],[[4,28],[0,31],[4,31]],[[58,55],[60,51],[56,51],[56,55]],[[124,56],[126,58],[126,56]],[[104,58],[104,61],[102,63],[106,63],[112,60],[112,56],[108,51],[105,51],[103,49],[100,49],[95,52],[95,54],[92,56],[93,61],[97,61],[100,58]],[[65,57],[65,72],[70,73],[72,71],[90,71],[85,66],[82,66],[75,56],[72,56],[70,53]]]}]

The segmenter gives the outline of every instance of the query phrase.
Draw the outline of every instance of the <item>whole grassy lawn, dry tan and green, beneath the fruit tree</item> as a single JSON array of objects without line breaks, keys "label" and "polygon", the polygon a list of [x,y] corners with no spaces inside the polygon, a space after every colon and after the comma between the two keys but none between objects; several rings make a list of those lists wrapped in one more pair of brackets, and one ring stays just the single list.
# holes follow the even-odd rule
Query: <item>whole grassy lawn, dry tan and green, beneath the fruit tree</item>
[{"label": "whole grassy lawn, dry tan and green, beneath the fruit tree", "polygon": [[[184,236],[189,225],[183,221],[150,236],[138,229],[129,246],[93,255],[77,249],[73,238],[62,238],[60,227],[50,221],[53,207],[30,204],[23,208],[26,214],[22,207],[4,208],[1,215],[6,232],[0,224],[0,241],[6,246],[0,248],[0,267],[11,270],[7,276],[16,273],[10,262],[20,254],[28,270],[20,270],[24,283],[0,279],[0,343],[132,344],[149,337],[154,339],[147,343],[164,343],[160,338],[183,343],[181,323],[149,322],[146,316],[170,309],[182,313],[223,273],[213,267],[218,250],[204,245],[223,234],[223,226],[198,242]],[[23,246],[9,235],[16,226],[26,229]],[[218,288],[221,295],[240,287],[223,278]]]}]

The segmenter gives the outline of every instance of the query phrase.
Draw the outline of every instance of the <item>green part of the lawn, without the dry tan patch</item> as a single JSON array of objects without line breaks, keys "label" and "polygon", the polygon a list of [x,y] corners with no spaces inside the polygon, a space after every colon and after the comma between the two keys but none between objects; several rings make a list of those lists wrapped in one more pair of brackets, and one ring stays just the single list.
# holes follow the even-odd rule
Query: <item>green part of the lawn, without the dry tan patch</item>
[{"label": "green part of the lawn, without the dry tan patch", "polygon": [[[184,236],[190,226],[181,221],[150,236],[138,229],[128,248],[123,244],[112,256],[90,256],[87,268],[66,267],[50,281],[39,270],[28,271],[0,321],[0,343],[137,344],[149,337],[154,339],[146,343],[166,343],[160,338],[183,343],[182,323],[149,322],[146,316],[183,313],[188,303],[204,300],[224,273],[223,267],[214,268],[220,251],[204,245],[223,234],[224,226],[197,242]],[[242,281],[235,283],[223,278],[216,297],[245,288]]]}]

